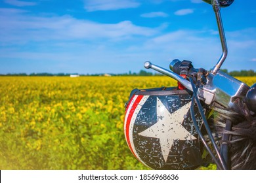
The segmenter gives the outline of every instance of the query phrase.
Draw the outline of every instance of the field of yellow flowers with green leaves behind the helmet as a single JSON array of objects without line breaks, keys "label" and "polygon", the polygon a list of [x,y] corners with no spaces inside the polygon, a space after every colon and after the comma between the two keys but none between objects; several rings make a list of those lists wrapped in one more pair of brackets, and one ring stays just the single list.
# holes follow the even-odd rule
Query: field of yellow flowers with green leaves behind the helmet
[{"label": "field of yellow flowers with green leaves behind the helmet", "polygon": [[133,88],[176,83],[167,76],[1,76],[0,169],[146,169],[125,142],[124,104]]}]

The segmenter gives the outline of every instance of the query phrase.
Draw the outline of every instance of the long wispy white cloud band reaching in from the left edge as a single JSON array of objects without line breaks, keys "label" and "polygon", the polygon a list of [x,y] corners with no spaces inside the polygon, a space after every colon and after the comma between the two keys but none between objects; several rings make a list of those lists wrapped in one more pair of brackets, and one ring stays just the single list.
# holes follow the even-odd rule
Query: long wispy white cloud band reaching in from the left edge
[{"label": "long wispy white cloud band reaching in from the left edge", "polygon": [[[8,11],[9,10],[9,11]],[[7,18],[8,17],[8,18]],[[28,41],[98,39],[122,40],[134,36],[152,36],[158,28],[143,27],[131,21],[116,24],[100,24],[89,20],[78,20],[72,16],[27,16],[14,9],[0,9],[1,44]]]}]

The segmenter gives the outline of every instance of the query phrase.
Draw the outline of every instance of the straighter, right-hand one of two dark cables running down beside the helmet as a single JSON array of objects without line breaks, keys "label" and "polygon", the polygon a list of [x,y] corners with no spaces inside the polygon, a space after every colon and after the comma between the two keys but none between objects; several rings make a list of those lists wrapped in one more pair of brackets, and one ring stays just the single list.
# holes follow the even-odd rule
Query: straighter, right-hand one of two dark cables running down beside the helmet
[{"label": "straighter, right-hand one of two dark cables running down beside the helmet", "polygon": [[[198,90],[198,87],[195,87],[194,86],[194,82],[193,82],[193,80],[192,80],[192,78],[191,77],[189,77],[189,80],[190,80],[190,83],[191,83],[191,86],[192,86],[192,90],[193,90],[193,92],[194,92],[194,94],[193,94],[193,97],[192,97],[192,104],[194,104],[194,100],[196,101],[196,103],[197,103],[197,105],[198,105],[198,110],[199,110],[199,112],[200,112],[200,114],[201,114],[201,116],[202,116],[202,120],[203,120],[203,124],[205,125],[205,129],[206,129],[206,131],[207,131],[207,134],[209,135],[209,139],[211,140],[211,143],[213,144],[213,148],[215,149],[215,152],[216,152],[216,154],[217,154],[217,156],[218,156],[218,158],[220,159],[220,163],[221,163],[221,165],[220,165],[220,163],[218,162],[218,163],[216,163],[216,165],[217,165],[217,167],[219,167],[219,169],[226,169],[226,163],[224,162],[224,160],[223,160],[223,158],[221,157],[221,154],[220,154],[220,152],[219,152],[219,150],[218,150],[218,148],[217,148],[217,144],[215,143],[215,141],[214,141],[214,138],[213,138],[213,135],[212,135],[212,133],[211,133],[211,129],[210,129],[210,127],[209,127],[209,125],[208,125],[208,122],[207,122],[207,120],[206,120],[206,118],[205,118],[205,115],[204,115],[204,112],[203,112],[203,109],[202,109],[202,105],[201,105],[201,103],[200,103],[200,101],[199,101],[199,99],[198,99],[198,97],[197,97],[197,90]],[[194,105],[192,106],[193,108],[194,108]],[[191,107],[191,108],[192,108]],[[192,116],[194,116],[194,115],[192,115]],[[199,130],[200,131],[200,130]],[[202,135],[202,134],[201,134]],[[205,148],[207,148],[206,146],[205,146]],[[211,150],[209,151],[209,152],[211,152]],[[212,153],[212,152],[211,152]]]}]

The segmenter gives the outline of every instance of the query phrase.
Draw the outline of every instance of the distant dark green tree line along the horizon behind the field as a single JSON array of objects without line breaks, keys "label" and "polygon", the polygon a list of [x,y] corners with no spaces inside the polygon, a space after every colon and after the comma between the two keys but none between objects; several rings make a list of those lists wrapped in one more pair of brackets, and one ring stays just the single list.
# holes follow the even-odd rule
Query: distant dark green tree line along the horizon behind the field
[{"label": "distant dark green tree line along the horizon behind the field", "polygon": [[[224,73],[227,73],[230,76],[256,76],[256,72],[252,69],[250,70],[241,70],[241,71],[230,71],[228,72],[227,69],[221,69]],[[100,74],[78,74],[78,73],[8,73],[6,75],[0,74],[0,76],[70,76],[70,75],[79,75],[79,76],[156,76],[161,75],[160,73],[152,73],[144,70],[140,70],[139,73],[121,73],[121,74],[114,74],[114,73],[100,73]]]}]

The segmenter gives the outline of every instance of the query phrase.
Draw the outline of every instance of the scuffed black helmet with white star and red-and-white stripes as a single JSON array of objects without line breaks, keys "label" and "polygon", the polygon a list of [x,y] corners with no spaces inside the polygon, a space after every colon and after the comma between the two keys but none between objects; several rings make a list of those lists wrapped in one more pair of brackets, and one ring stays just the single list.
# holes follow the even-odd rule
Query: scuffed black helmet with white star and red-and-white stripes
[{"label": "scuffed black helmet with white star and red-and-white stripes", "polygon": [[[196,169],[205,163],[190,116],[192,93],[177,88],[135,89],[125,105],[127,144],[151,169]],[[202,119],[195,110],[198,125]]]}]

